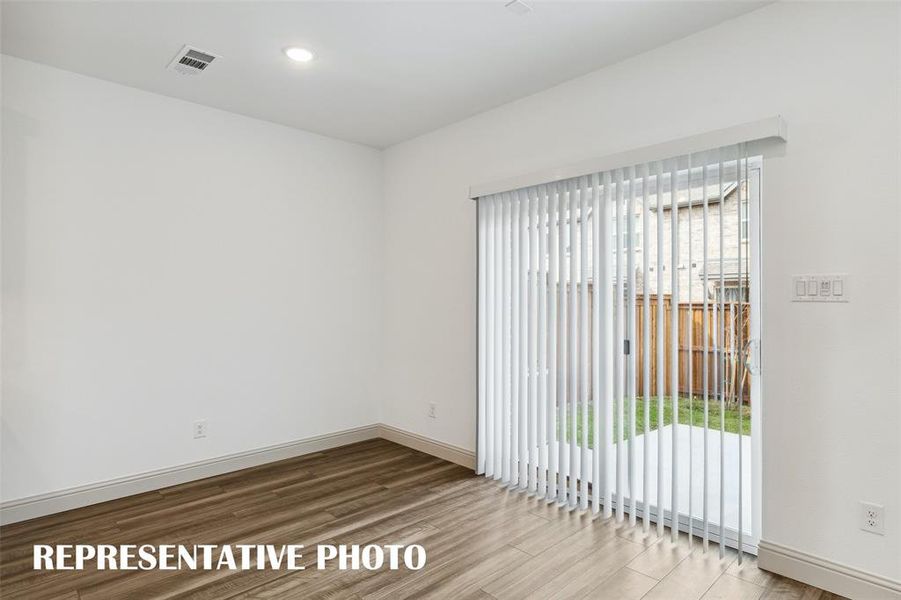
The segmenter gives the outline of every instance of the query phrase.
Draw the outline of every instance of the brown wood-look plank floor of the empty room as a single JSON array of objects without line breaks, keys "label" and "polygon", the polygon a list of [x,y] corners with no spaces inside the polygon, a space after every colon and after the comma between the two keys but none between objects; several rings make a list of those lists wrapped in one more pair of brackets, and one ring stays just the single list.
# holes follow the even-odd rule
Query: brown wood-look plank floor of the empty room
[{"label": "brown wood-look plank floor of the empty room", "polygon": [[[421,544],[421,571],[33,571],[33,544]],[[313,553],[305,554],[309,564]],[[834,599],[385,440],[0,529],[5,598]]]}]

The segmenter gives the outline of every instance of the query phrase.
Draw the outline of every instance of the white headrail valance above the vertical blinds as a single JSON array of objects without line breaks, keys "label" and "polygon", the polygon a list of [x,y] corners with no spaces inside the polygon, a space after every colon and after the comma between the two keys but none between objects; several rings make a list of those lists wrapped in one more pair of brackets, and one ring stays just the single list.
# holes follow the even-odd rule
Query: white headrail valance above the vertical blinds
[{"label": "white headrail valance above the vertical blinds", "polygon": [[[475,200],[498,192],[562,181],[640,163],[673,160],[673,157],[687,157],[735,144],[746,144],[746,149],[750,154],[764,154],[765,150],[772,147],[774,143],[779,144],[787,140],[788,126],[785,119],[777,115],[768,119],[671,140],[662,144],[609,154],[600,158],[592,158],[564,167],[473,185],[469,188],[469,197]],[[698,161],[696,164],[701,164],[701,162],[703,160]],[[682,166],[679,165],[679,167]]]}]

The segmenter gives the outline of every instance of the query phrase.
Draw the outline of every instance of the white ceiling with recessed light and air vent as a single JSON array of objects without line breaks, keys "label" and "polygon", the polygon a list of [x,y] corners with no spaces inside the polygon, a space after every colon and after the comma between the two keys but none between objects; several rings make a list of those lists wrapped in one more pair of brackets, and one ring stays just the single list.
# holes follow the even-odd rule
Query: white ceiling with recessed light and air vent
[{"label": "white ceiling with recessed light and air vent", "polygon": [[[385,147],[644,52],[764,2],[4,1],[2,50]],[[185,77],[184,45],[222,56]],[[308,65],[286,46],[312,49]]]}]

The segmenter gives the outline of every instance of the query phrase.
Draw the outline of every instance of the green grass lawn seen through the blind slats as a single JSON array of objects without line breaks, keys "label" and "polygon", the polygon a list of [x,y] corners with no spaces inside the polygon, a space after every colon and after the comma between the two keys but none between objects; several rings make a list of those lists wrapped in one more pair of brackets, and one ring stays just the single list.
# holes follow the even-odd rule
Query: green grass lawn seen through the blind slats
[{"label": "green grass lawn seen through the blind slats", "polygon": [[[689,402],[689,398],[687,396],[679,397],[679,423],[688,425],[692,423],[697,425],[698,427],[704,426],[704,399],[695,397],[692,403]],[[651,431],[657,429],[657,398],[651,398],[650,401],[650,429]],[[628,424],[629,417],[631,416],[631,411],[629,410],[629,400],[628,398],[623,403],[623,412],[626,415],[626,423]],[[721,416],[725,415],[725,429],[730,433],[738,433],[738,423],[739,423],[739,414],[737,407],[727,407],[723,413],[720,413],[720,403],[718,401],[710,400],[708,402],[708,422],[707,425],[712,430],[719,431],[720,429],[720,420]],[[567,407],[569,408],[569,407]],[[644,399],[638,398],[638,401],[635,403],[635,434],[641,435],[644,432]],[[594,411],[592,407],[589,405],[588,407],[588,421],[592,422]],[[567,421],[569,421],[572,416],[567,412]],[[614,407],[614,427],[617,423],[616,416],[616,407]],[[664,425],[672,425],[673,423],[673,403],[672,398],[665,397],[663,399],[663,423]],[[581,412],[576,415],[576,428],[578,432],[577,440],[582,439],[582,414]],[[569,432],[571,430],[570,422],[567,423],[566,431]],[[741,433],[743,435],[751,434],[751,408],[749,406],[744,406],[742,408],[741,414]],[[614,436],[616,435],[614,429]],[[589,431],[589,438],[590,435]],[[567,440],[569,436],[567,435]],[[592,439],[589,439],[589,446],[593,447],[594,443]]]}]

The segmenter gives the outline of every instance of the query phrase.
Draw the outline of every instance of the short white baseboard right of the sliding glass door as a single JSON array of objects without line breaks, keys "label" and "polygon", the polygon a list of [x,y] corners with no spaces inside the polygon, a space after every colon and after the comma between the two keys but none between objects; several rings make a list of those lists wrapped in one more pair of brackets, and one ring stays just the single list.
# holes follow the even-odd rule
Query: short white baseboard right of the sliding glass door
[{"label": "short white baseboard right of the sliding glass door", "polygon": [[760,540],[761,569],[852,599],[901,600],[901,582],[842,565],[788,546]]}]

